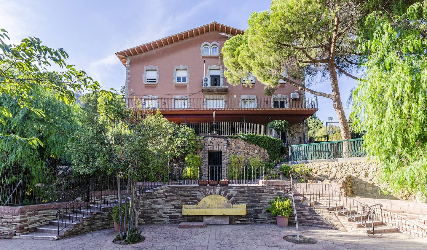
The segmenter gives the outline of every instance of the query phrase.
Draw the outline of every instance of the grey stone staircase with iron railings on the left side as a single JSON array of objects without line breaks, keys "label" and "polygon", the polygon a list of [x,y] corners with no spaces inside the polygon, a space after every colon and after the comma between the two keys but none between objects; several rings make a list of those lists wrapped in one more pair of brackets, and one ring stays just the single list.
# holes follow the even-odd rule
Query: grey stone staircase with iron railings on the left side
[{"label": "grey stone staircase with iron railings on the left side", "polygon": [[[138,186],[137,195],[138,196],[146,196],[154,192],[155,190],[160,189],[160,187],[152,188],[146,190],[146,188],[142,188]],[[129,199],[130,197],[128,197]],[[58,221],[58,218],[54,220],[50,220],[49,223],[44,224],[42,226],[38,226],[34,229],[33,232],[29,232],[26,234],[22,234],[19,236],[21,239],[42,239],[42,240],[57,240],[62,238],[67,231],[75,230],[75,226],[81,224],[83,220],[86,218],[90,218],[96,213],[102,212],[102,209],[105,208],[113,208],[117,206],[119,203],[118,200],[114,200],[114,203],[105,203],[102,206],[99,204],[90,204],[88,206],[83,206],[79,209],[75,209],[75,211],[67,213],[63,215],[63,219]],[[58,235],[58,224],[60,229],[62,226],[65,226]]]}]

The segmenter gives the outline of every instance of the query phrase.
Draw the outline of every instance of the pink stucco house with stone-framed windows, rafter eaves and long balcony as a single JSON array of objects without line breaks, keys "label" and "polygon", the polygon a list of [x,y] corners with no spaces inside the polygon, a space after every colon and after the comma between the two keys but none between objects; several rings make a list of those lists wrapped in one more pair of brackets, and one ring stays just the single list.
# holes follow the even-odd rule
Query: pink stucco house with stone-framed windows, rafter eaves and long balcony
[{"label": "pink stucco house with stone-framed windows, rafter eaves and long balcony", "polygon": [[126,101],[135,109],[159,109],[177,123],[245,122],[267,124],[285,119],[301,124],[317,111],[316,97],[290,84],[273,96],[263,94],[255,78],[252,88],[228,84],[221,49],[244,31],[212,22],[117,52],[126,67]]}]

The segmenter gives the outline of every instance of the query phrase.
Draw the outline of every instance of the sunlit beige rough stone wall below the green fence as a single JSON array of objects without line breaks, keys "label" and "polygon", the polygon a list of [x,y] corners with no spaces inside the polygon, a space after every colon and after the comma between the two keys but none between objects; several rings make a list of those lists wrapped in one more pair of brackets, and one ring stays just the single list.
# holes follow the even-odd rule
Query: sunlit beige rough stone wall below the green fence
[{"label": "sunlit beige rough stone wall below the green fence", "polygon": [[[393,195],[380,193],[380,184],[378,181],[379,165],[374,161],[358,159],[354,161],[313,162],[308,163],[307,166],[313,169],[311,175],[315,180],[342,179],[343,176],[350,176],[352,196],[386,199],[397,198]],[[342,180],[342,182],[348,186],[348,177]]]}]

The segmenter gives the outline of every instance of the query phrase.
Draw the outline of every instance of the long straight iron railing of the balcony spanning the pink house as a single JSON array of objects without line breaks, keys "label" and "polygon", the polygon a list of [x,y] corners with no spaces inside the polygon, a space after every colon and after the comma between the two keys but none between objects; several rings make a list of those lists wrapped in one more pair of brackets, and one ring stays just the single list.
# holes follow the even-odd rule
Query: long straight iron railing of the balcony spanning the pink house
[{"label": "long straight iron railing of the balcony spanning the pink house", "polygon": [[317,109],[317,97],[301,98],[125,98],[130,109]]}]

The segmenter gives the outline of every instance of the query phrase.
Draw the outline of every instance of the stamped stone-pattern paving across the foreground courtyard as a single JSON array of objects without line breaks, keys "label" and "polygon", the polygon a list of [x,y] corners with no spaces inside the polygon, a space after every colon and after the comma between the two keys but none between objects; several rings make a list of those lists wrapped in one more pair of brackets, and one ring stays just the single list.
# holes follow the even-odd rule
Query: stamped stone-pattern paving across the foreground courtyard
[{"label": "stamped stone-pattern paving across the foreground courtyard", "polygon": [[427,249],[427,239],[403,234],[378,235],[372,238],[350,232],[301,226],[301,234],[316,238],[313,245],[298,245],[283,240],[295,233],[295,227],[281,228],[273,224],[218,225],[206,228],[181,229],[178,224],[140,226],[146,240],[132,245],[111,242],[116,233],[104,229],[58,241],[7,239],[0,240],[0,249]]}]

